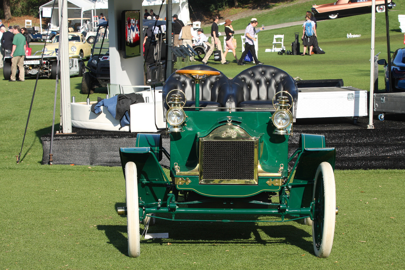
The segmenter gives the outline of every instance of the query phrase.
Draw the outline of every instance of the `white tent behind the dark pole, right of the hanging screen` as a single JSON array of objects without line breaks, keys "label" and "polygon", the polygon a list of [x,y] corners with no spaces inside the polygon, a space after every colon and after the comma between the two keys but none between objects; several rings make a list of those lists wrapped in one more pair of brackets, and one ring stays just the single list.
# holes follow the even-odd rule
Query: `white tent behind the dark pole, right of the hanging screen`
[{"label": "white tent behind the dark pole, right of the hanging screen", "polygon": [[[158,14],[162,0],[143,0],[141,13],[145,12],[147,9],[148,12],[153,9],[153,13]],[[188,0],[173,0],[172,1],[172,15],[177,14],[179,19],[183,23],[187,23],[190,20],[190,12],[188,11]],[[165,19],[166,17],[166,4],[163,4],[162,10],[160,11],[160,18]]]}]

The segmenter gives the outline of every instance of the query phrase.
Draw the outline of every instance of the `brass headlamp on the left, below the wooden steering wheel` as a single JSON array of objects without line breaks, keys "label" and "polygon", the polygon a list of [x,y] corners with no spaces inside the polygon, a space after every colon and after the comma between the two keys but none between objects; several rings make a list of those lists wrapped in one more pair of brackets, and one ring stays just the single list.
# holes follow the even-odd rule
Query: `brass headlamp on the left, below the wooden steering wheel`
[{"label": "brass headlamp on the left, below the wooden steering wheel", "polygon": [[[181,90],[175,89],[172,91],[181,91]],[[185,101],[182,100],[180,94],[172,94],[170,97],[171,101],[168,102],[167,97],[172,91],[170,91],[166,96],[166,103],[168,104],[168,106],[170,106],[170,108],[167,110],[166,113],[166,121],[170,125],[168,128],[168,132],[182,132],[183,128],[181,127],[181,124],[184,122],[186,117],[183,111]]]}]

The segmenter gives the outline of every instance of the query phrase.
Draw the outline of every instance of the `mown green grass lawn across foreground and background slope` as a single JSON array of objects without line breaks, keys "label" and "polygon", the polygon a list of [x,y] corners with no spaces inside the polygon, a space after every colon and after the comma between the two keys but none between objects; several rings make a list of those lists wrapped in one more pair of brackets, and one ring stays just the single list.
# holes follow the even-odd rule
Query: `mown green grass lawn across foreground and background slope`
[{"label": "mown green grass lawn across foreground and background slope", "polygon": [[[296,4],[269,13],[275,23],[301,19]],[[316,2],[319,4],[318,2]],[[390,11],[391,51],[403,47],[397,14]],[[265,53],[274,34],[285,34],[287,49],[301,26],[259,34],[259,60],[302,79],[343,79],[369,90],[370,15],[318,23],[318,41],[324,55],[293,56]],[[240,25],[247,19],[241,19]],[[375,52],[387,58],[384,17],[377,14]],[[270,24],[275,24],[270,23]],[[261,23],[260,23],[261,24]],[[239,22],[235,21],[234,26]],[[361,34],[346,38],[347,33]],[[240,40],[240,38],[239,38]],[[238,41],[239,41],[238,40]],[[241,55],[240,42],[237,56]],[[33,45],[33,51],[43,46]],[[302,51],[302,45],[301,45]],[[232,55],[228,54],[228,60]],[[212,67],[234,77],[250,65],[216,64]],[[382,67],[379,89],[384,88]],[[158,220],[149,232],[169,232],[169,239],[141,240],[141,257],[127,256],[126,218],[116,214],[125,204],[122,169],[102,166],[40,165],[40,136],[51,132],[55,81],[40,79],[30,123],[16,164],[26,126],[35,80],[0,80],[0,269],[404,269],[404,170],[336,171],[337,216],[335,241],[327,259],[313,255],[311,228],[302,222],[210,223]],[[71,96],[85,101],[81,77],[70,79]],[[104,97],[105,89],[90,96]],[[60,99],[56,127],[59,129]],[[80,155],[80,153],[78,153]],[[384,180],[384,181],[382,181]],[[198,217],[193,217],[198,218]],[[205,218],[204,216],[200,217]],[[264,217],[254,217],[258,220]],[[221,218],[223,219],[223,218]],[[170,243],[170,244],[168,244]]]}]

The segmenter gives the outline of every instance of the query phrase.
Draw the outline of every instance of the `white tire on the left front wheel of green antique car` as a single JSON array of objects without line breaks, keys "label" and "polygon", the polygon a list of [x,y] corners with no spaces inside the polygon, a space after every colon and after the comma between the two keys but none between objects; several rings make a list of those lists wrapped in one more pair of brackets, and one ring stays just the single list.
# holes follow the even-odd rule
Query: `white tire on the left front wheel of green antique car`
[{"label": "white tire on the left front wheel of green antique car", "polygon": [[141,236],[139,234],[138,179],[136,165],[134,162],[128,162],[125,165],[125,188],[128,228],[128,256],[139,257],[139,255],[141,255]]}]

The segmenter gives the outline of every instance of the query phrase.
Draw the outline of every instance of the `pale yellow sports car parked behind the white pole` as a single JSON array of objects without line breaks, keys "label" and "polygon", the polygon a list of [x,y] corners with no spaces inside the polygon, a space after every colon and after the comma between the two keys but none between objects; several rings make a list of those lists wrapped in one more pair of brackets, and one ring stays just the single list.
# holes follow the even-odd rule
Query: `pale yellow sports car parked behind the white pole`
[{"label": "pale yellow sports car parked behind the white pole", "polygon": [[[86,58],[90,56],[92,45],[88,43],[81,33],[69,33],[69,57]],[[53,37],[52,43],[45,46],[46,51],[56,51],[59,48],[59,35]]]}]

